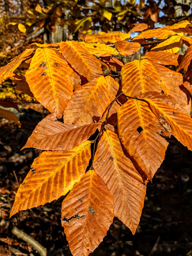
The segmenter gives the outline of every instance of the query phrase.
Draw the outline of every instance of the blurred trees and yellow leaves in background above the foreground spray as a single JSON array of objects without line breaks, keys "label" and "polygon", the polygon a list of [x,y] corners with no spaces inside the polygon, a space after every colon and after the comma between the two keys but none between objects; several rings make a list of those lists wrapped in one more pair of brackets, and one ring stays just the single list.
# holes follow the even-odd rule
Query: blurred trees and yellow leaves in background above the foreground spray
[{"label": "blurred trees and yellow leaves in background above the foreground spray", "polygon": [[0,0],[0,65],[33,41],[128,32],[136,22],[150,29],[171,25],[190,16],[190,5],[190,0]]}]

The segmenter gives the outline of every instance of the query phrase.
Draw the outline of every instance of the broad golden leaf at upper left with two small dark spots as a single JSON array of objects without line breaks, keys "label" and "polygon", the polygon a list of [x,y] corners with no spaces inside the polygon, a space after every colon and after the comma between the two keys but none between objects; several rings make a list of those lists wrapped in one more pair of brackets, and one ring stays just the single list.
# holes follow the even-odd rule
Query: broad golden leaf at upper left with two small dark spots
[{"label": "broad golden leaf at upper left with two small dark spots", "polygon": [[61,118],[74,83],[74,71],[62,55],[49,48],[37,48],[25,77],[36,100]]}]

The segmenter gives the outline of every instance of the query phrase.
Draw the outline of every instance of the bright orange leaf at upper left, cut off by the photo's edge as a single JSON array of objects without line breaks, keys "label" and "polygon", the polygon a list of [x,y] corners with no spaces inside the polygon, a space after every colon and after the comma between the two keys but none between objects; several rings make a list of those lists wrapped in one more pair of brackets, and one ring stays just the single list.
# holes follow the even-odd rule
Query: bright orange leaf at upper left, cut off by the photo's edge
[{"label": "bright orange leaf at upper left, cut off by the photo's edge", "polygon": [[9,62],[7,65],[0,67],[0,83],[5,81],[10,74],[20,65],[25,57],[28,57],[34,49],[25,49],[15,59]]}]

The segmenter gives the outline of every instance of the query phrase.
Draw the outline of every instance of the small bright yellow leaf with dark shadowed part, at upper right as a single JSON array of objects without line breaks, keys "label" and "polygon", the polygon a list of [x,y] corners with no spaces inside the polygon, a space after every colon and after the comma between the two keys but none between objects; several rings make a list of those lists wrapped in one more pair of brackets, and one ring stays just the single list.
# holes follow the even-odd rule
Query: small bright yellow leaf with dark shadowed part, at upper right
[{"label": "small bright yellow leaf with dark shadowed part, at upper right", "polygon": [[166,51],[171,53],[177,53],[181,47],[182,36],[172,35],[170,38],[166,39],[163,42],[160,42],[158,45],[153,47],[151,51]]}]

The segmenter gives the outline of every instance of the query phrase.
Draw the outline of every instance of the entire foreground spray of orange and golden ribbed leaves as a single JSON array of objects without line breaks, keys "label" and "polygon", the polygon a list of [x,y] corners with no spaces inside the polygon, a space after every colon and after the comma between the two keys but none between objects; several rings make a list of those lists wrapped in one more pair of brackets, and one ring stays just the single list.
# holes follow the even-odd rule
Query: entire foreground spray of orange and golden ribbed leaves
[{"label": "entire foreground spray of orange and golden ribbed leaves", "polygon": [[[61,224],[74,256],[92,252],[114,216],[135,233],[166,137],[192,150],[192,39],[186,33],[192,34],[188,20],[157,29],[135,23],[129,33],[33,43],[0,68],[0,83],[20,79],[50,112],[23,146],[44,151],[19,186],[10,216],[67,194]],[[180,56],[183,43],[188,49]],[[141,59],[123,64],[115,57],[126,59],[141,46]],[[20,66],[28,67],[24,78],[13,73]]]}]

